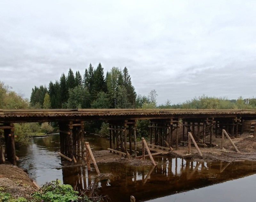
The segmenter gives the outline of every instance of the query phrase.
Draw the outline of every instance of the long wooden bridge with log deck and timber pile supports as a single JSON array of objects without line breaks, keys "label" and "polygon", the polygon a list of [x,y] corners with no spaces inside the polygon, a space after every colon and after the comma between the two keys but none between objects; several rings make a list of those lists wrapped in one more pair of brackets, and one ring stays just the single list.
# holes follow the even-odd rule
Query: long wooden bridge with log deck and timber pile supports
[{"label": "long wooden bridge with log deck and timber pile supports", "polygon": [[[256,120],[256,110],[0,109],[0,129],[4,130],[5,154],[14,165],[16,165],[16,155],[13,123],[58,122],[60,153],[76,161],[76,159],[84,159],[84,121],[107,121],[110,149],[121,150],[128,156],[132,155],[133,144],[136,155],[137,120],[143,119],[149,120],[150,144],[154,140],[154,145],[171,147],[174,144],[177,148],[178,144],[188,140],[188,132],[195,136],[199,145],[207,143],[212,145],[212,135],[218,135],[222,129],[234,137],[244,130],[255,134],[256,121],[253,120]],[[206,142],[207,135],[210,136],[210,142]],[[0,154],[2,154],[2,146]],[[61,158],[64,160],[63,157]],[[2,160],[0,158],[0,163]]]}]

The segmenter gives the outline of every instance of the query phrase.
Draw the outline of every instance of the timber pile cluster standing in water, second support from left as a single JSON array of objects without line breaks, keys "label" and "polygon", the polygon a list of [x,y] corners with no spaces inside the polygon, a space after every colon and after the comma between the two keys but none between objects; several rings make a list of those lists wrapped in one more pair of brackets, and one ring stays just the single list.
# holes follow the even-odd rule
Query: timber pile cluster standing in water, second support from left
[{"label": "timber pile cluster standing in water, second support from left", "polygon": [[[84,161],[84,122],[59,122],[60,153],[73,162]],[[61,156],[61,162],[67,158]]]}]

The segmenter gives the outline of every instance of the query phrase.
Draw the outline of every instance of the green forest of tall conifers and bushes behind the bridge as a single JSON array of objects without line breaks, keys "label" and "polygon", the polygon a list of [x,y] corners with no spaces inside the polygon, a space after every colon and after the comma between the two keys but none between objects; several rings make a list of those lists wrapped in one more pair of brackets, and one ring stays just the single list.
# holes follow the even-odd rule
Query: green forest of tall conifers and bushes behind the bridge
[{"label": "green forest of tall conifers and bushes behind the bridge", "polygon": [[[106,75],[106,77],[105,77]],[[112,67],[104,73],[99,63],[86,68],[83,76],[70,68],[67,75],[61,74],[59,80],[49,81],[48,86],[32,88],[30,100],[12,91],[12,88],[0,81],[0,108],[211,108],[211,109],[255,109],[256,99],[249,99],[249,104],[240,96],[236,100],[202,95],[183,103],[171,104],[170,100],[157,105],[157,92],[152,89],[148,95],[140,95],[132,85],[128,68]],[[138,121],[138,138],[147,137],[148,120]],[[17,146],[27,144],[32,134],[42,134],[56,130],[56,123],[16,123]],[[85,130],[107,135],[107,124],[86,122]],[[3,131],[2,131],[3,132]],[[0,131],[0,135],[2,133]]]}]

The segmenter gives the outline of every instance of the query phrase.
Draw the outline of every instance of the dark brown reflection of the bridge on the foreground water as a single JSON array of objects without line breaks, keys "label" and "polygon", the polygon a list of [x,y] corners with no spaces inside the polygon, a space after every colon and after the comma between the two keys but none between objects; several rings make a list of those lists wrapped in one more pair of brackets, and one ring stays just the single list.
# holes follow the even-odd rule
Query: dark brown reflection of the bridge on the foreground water
[{"label": "dark brown reflection of the bridge on the foreground water", "polygon": [[103,173],[112,173],[104,180],[97,178],[96,172],[88,174],[85,167],[63,168],[63,183],[78,191],[90,186],[112,201],[129,201],[131,195],[137,200],[149,200],[256,173],[251,161],[193,162],[166,157],[157,157],[156,161],[156,167],[101,164]]}]

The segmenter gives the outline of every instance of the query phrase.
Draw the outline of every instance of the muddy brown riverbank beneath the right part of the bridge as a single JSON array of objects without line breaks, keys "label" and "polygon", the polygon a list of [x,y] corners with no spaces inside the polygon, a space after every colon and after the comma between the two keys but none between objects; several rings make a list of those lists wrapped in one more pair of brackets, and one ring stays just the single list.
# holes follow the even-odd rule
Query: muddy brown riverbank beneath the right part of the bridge
[{"label": "muddy brown riverbank beneath the right part of the bridge", "polygon": [[[152,153],[163,152],[165,156],[179,157],[184,159],[190,159],[192,161],[239,161],[249,160],[256,161],[256,138],[252,135],[243,134],[238,138],[233,138],[232,141],[236,145],[239,152],[237,153],[235,148],[232,146],[228,138],[224,139],[224,148],[220,149],[221,138],[212,137],[214,143],[213,147],[199,147],[203,156],[200,156],[196,148],[191,146],[191,153],[188,154],[188,146],[178,146],[176,150],[173,147],[171,152],[167,150],[150,148]],[[141,150],[141,142],[137,144],[138,150]],[[150,165],[151,161],[148,158],[145,161],[140,159],[134,159],[132,156],[128,159],[118,155],[116,153],[110,153],[108,150],[94,151],[94,157],[97,163],[129,163],[130,165]]]}]

